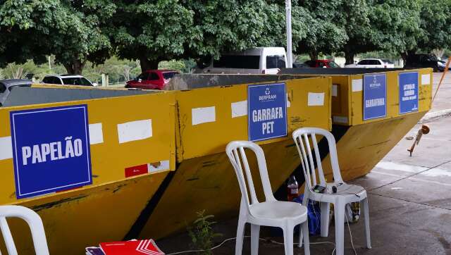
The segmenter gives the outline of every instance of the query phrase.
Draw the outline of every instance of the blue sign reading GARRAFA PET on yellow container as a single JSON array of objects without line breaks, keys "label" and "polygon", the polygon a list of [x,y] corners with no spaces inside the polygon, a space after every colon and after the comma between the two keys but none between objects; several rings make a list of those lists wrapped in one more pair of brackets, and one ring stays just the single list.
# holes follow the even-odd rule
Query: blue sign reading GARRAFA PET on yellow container
[{"label": "blue sign reading GARRAFA PET on yellow container", "polygon": [[287,135],[285,83],[247,87],[249,141]]}]

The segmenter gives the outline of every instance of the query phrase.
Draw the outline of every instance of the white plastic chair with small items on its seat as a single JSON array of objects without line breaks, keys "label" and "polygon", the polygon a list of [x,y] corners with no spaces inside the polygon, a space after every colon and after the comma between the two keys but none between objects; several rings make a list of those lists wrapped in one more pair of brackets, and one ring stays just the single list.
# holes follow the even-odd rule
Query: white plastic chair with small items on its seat
[{"label": "white plastic chair with small items on its seat", "polygon": [[[316,142],[315,135],[323,135],[323,137],[326,137],[327,139],[330,163],[333,170],[333,183],[326,183],[326,179],[324,178],[318,143]],[[335,138],[333,135],[327,130],[323,130],[321,128],[299,128],[292,133],[292,137],[295,140],[297,151],[299,152],[299,156],[301,158],[302,170],[304,170],[304,177],[306,180],[302,204],[307,206],[309,199],[321,202],[321,237],[328,236],[330,203],[333,203],[335,212],[335,248],[337,255],[342,255],[345,245],[345,206],[348,203],[359,202],[365,220],[366,247],[371,249],[368,199],[366,197],[366,190],[358,185],[347,185],[342,180],[340,166],[338,166]],[[311,150],[311,144],[313,145],[313,151]],[[314,163],[316,163],[317,166],[318,176],[316,176],[316,167]],[[337,193],[326,193],[326,191],[324,193],[314,192],[313,187],[317,184],[317,178],[319,178],[318,184],[323,187],[335,185],[335,187],[337,187]],[[306,231],[306,233],[308,232]],[[299,247],[302,245],[301,238],[302,235],[299,235]]]}]

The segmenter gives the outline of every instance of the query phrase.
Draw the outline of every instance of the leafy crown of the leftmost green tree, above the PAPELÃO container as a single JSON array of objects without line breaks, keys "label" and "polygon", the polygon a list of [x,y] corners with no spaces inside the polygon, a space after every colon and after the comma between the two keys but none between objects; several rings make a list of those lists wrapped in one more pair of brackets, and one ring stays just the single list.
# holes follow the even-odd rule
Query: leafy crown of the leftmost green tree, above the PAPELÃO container
[{"label": "leafy crown of the leftmost green tree, above the PAPEL\u00c3O container", "polygon": [[[101,1],[99,1],[101,2]],[[110,4],[111,6],[111,4]],[[111,53],[100,26],[111,8],[97,1],[6,0],[0,6],[0,65],[44,63],[54,54],[68,73],[81,74],[86,61],[101,63]],[[98,14],[100,13],[100,14]]]}]

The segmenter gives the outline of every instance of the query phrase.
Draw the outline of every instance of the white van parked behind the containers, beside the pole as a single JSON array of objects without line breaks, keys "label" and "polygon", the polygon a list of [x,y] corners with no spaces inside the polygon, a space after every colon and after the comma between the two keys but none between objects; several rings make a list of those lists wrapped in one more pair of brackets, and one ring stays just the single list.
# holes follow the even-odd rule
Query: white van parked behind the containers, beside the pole
[{"label": "white van parked behind the containers, beside the pole", "polygon": [[287,55],[283,47],[259,47],[240,53],[223,54],[213,59],[210,66],[194,73],[263,73],[277,74],[287,68]]}]

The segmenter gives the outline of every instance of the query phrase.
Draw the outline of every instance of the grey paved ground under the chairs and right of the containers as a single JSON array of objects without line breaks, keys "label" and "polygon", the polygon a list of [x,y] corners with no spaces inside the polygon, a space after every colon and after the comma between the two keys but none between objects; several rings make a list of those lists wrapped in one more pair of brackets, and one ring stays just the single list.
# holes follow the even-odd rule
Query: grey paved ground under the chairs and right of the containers
[{"label": "grey paved ground under the chairs and right of the containers", "polygon": [[[434,92],[441,73],[434,74]],[[371,241],[366,249],[363,220],[351,224],[357,254],[451,254],[451,73],[438,92],[431,112],[440,114],[423,120],[431,127],[416,147],[412,157],[407,148],[420,125],[416,125],[369,175],[355,180],[369,191]],[[433,116],[433,115],[428,115]],[[216,225],[223,237],[235,237],[237,219]],[[334,242],[334,227],[329,237],[311,237],[311,242]],[[247,228],[249,235],[249,227]],[[271,232],[262,228],[261,237]],[[272,240],[283,242],[280,237]],[[297,240],[297,237],[295,237]],[[158,242],[166,253],[189,248],[186,233]],[[250,240],[245,238],[243,254],[250,254]],[[214,254],[234,254],[235,240],[214,250]],[[333,244],[311,244],[311,254],[331,254]],[[345,254],[353,254],[350,232],[345,229]],[[261,241],[259,254],[284,254],[283,245]],[[295,254],[304,254],[295,248]]]}]

